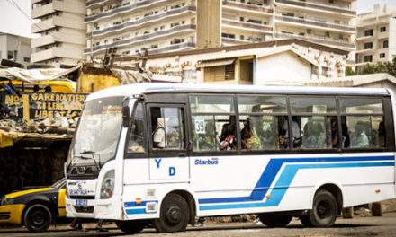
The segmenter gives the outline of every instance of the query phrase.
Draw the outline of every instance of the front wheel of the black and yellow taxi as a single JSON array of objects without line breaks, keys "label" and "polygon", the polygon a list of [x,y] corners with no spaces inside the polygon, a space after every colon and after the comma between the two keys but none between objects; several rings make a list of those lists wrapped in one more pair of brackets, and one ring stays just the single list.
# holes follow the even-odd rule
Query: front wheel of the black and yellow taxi
[{"label": "front wheel of the black and yellow taxi", "polygon": [[52,224],[52,212],[48,206],[33,204],[23,215],[23,222],[31,232],[43,232]]}]

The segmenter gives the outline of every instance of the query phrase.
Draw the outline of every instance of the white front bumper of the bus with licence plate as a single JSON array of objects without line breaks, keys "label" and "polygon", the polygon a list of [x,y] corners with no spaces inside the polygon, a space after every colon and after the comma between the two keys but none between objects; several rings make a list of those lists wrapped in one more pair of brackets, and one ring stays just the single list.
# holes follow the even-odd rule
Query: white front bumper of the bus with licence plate
[{"label": "white front bumper of the bus with licence plate", "polygon": [[122,220],[121,196],[110,199],[88,199],[86,206],[77,206],[76,202],[76,199],[66,198],[67,217]]}]

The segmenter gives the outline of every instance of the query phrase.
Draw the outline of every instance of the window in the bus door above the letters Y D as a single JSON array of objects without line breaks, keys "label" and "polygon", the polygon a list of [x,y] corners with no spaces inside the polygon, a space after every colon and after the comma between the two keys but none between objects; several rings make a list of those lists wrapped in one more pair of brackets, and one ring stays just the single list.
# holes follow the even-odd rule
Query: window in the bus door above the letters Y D
[{"label": "window in the bus door above the letters Y D", "polygon": [[153,149],[181,150],[184,144],[184,111],[182,108],[151,107]]}]

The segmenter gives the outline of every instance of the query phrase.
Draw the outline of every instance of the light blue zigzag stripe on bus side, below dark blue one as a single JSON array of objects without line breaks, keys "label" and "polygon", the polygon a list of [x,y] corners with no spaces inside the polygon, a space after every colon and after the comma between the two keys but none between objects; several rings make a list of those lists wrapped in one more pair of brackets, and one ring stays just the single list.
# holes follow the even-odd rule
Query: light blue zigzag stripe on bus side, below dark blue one
[{"label": "light blue zigzag stripe on bus side, below dark blue one", "polygon": [[[388,156],[389,157],[389,156]],[[284,195],[292,183],[297,171],[300,169],[329,169],[329,168],[354,168],[354,167],[382,167],[394,166],[395,162],[357,162],[357,163],[311,163],[311,164],[288,164],[277,180],[274,189],[271,191],[271,198],[266,199],[266,202],[257,203],[241,203],[241,204],[226,204],[226,205],[206,205],[200,206],[201,211],[220,210],[220,209],[235,209],[235,208],[249,208],[249,207],[265,207],[278,206]],[[214,199],[214,198],[213,198]],[[235,202],[236,198],[218,198],[223,202]],[[243,200],[242,202],[252,201]]]}]

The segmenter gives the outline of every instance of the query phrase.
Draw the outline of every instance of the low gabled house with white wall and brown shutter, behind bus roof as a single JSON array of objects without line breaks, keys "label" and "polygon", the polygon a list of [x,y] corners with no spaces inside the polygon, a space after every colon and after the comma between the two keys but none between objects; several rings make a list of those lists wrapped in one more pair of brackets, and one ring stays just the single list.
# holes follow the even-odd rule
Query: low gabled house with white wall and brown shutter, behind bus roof
[{"label": "low gabled house with white wall and brown shutter, behind bus roof", "polygon": [[293,84],[345,76],[347,53],[306,40],[272,40],[148,55],[146,67],[182,83]]}]

